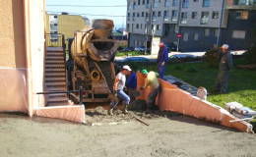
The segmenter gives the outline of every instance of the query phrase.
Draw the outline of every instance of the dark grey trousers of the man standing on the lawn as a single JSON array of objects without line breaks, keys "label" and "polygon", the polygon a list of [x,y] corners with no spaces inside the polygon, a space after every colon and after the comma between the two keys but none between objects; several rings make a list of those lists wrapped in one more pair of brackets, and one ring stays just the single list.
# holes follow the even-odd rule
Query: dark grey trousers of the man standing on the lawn
[{"label": "dark grey trousers of the man standing on the lawn", "polygon": [[229,71],[219,71],[218,77],[216,79],[216,91],[219,91],[221,93],[226,92],[228,74]]}]

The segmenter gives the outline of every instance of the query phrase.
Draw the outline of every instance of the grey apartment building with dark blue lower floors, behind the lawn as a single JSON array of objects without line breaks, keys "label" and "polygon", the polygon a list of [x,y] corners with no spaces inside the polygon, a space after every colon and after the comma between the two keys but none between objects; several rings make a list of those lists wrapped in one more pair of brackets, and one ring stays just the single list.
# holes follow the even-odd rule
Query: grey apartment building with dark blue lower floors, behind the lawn
[{"label": "grey apartment building with dark blue lower floors, behind the lawn", "polygon": [[182,52],[205,51],[217,42],[244,50],[254,41],[255,23],[256,0],[127,0],[132,47],[145,45],[148,34],[148,45],[157,36],[178,42]]}]

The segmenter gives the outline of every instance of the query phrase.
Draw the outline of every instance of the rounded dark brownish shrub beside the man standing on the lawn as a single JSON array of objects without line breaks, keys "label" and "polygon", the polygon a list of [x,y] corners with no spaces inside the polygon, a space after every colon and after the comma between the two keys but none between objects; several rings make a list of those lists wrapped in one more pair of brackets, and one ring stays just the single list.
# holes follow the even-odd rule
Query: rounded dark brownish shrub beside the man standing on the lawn
[{"label": "rounded dark brownish shrub beside the man standing on the lawn", "polygon": [[211,49],[206,51],[203,56],[203,62],[207,63],[210,68],[217,68],[221,59],[221,53],[218,50]]}]

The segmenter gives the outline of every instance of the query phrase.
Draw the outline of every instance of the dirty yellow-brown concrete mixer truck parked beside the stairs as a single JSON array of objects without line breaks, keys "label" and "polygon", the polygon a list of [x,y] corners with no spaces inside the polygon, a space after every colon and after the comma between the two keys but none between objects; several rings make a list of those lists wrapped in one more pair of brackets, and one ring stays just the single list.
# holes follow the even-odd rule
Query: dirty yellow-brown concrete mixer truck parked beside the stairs
[{"label": "dirty yellow-brown concrete mixer truck parked beside the stairs", "polygon": [[73,89],[83,86],[84,102],[106,102],[112,96],[115,70],[113,60],[118,41],[111,32],[110,20],[93,20],[91,26],[75,33],[71,44],[74,69],[71,73]]}]

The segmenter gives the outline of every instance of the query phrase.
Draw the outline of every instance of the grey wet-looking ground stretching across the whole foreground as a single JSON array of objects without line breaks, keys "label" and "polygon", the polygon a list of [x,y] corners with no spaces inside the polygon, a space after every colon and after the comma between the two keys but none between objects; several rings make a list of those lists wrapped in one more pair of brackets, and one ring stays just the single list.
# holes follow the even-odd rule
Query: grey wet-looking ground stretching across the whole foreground
[{"label": "grey wet-looking ground stretching across the whole foreground", "polygon": [[108,116],[107,110],[96,107],[86,114],[84,125],[1,113],[0,156],[256,156],[255,134],[178,113],[123,115],[116,109],[114,116]]}]

